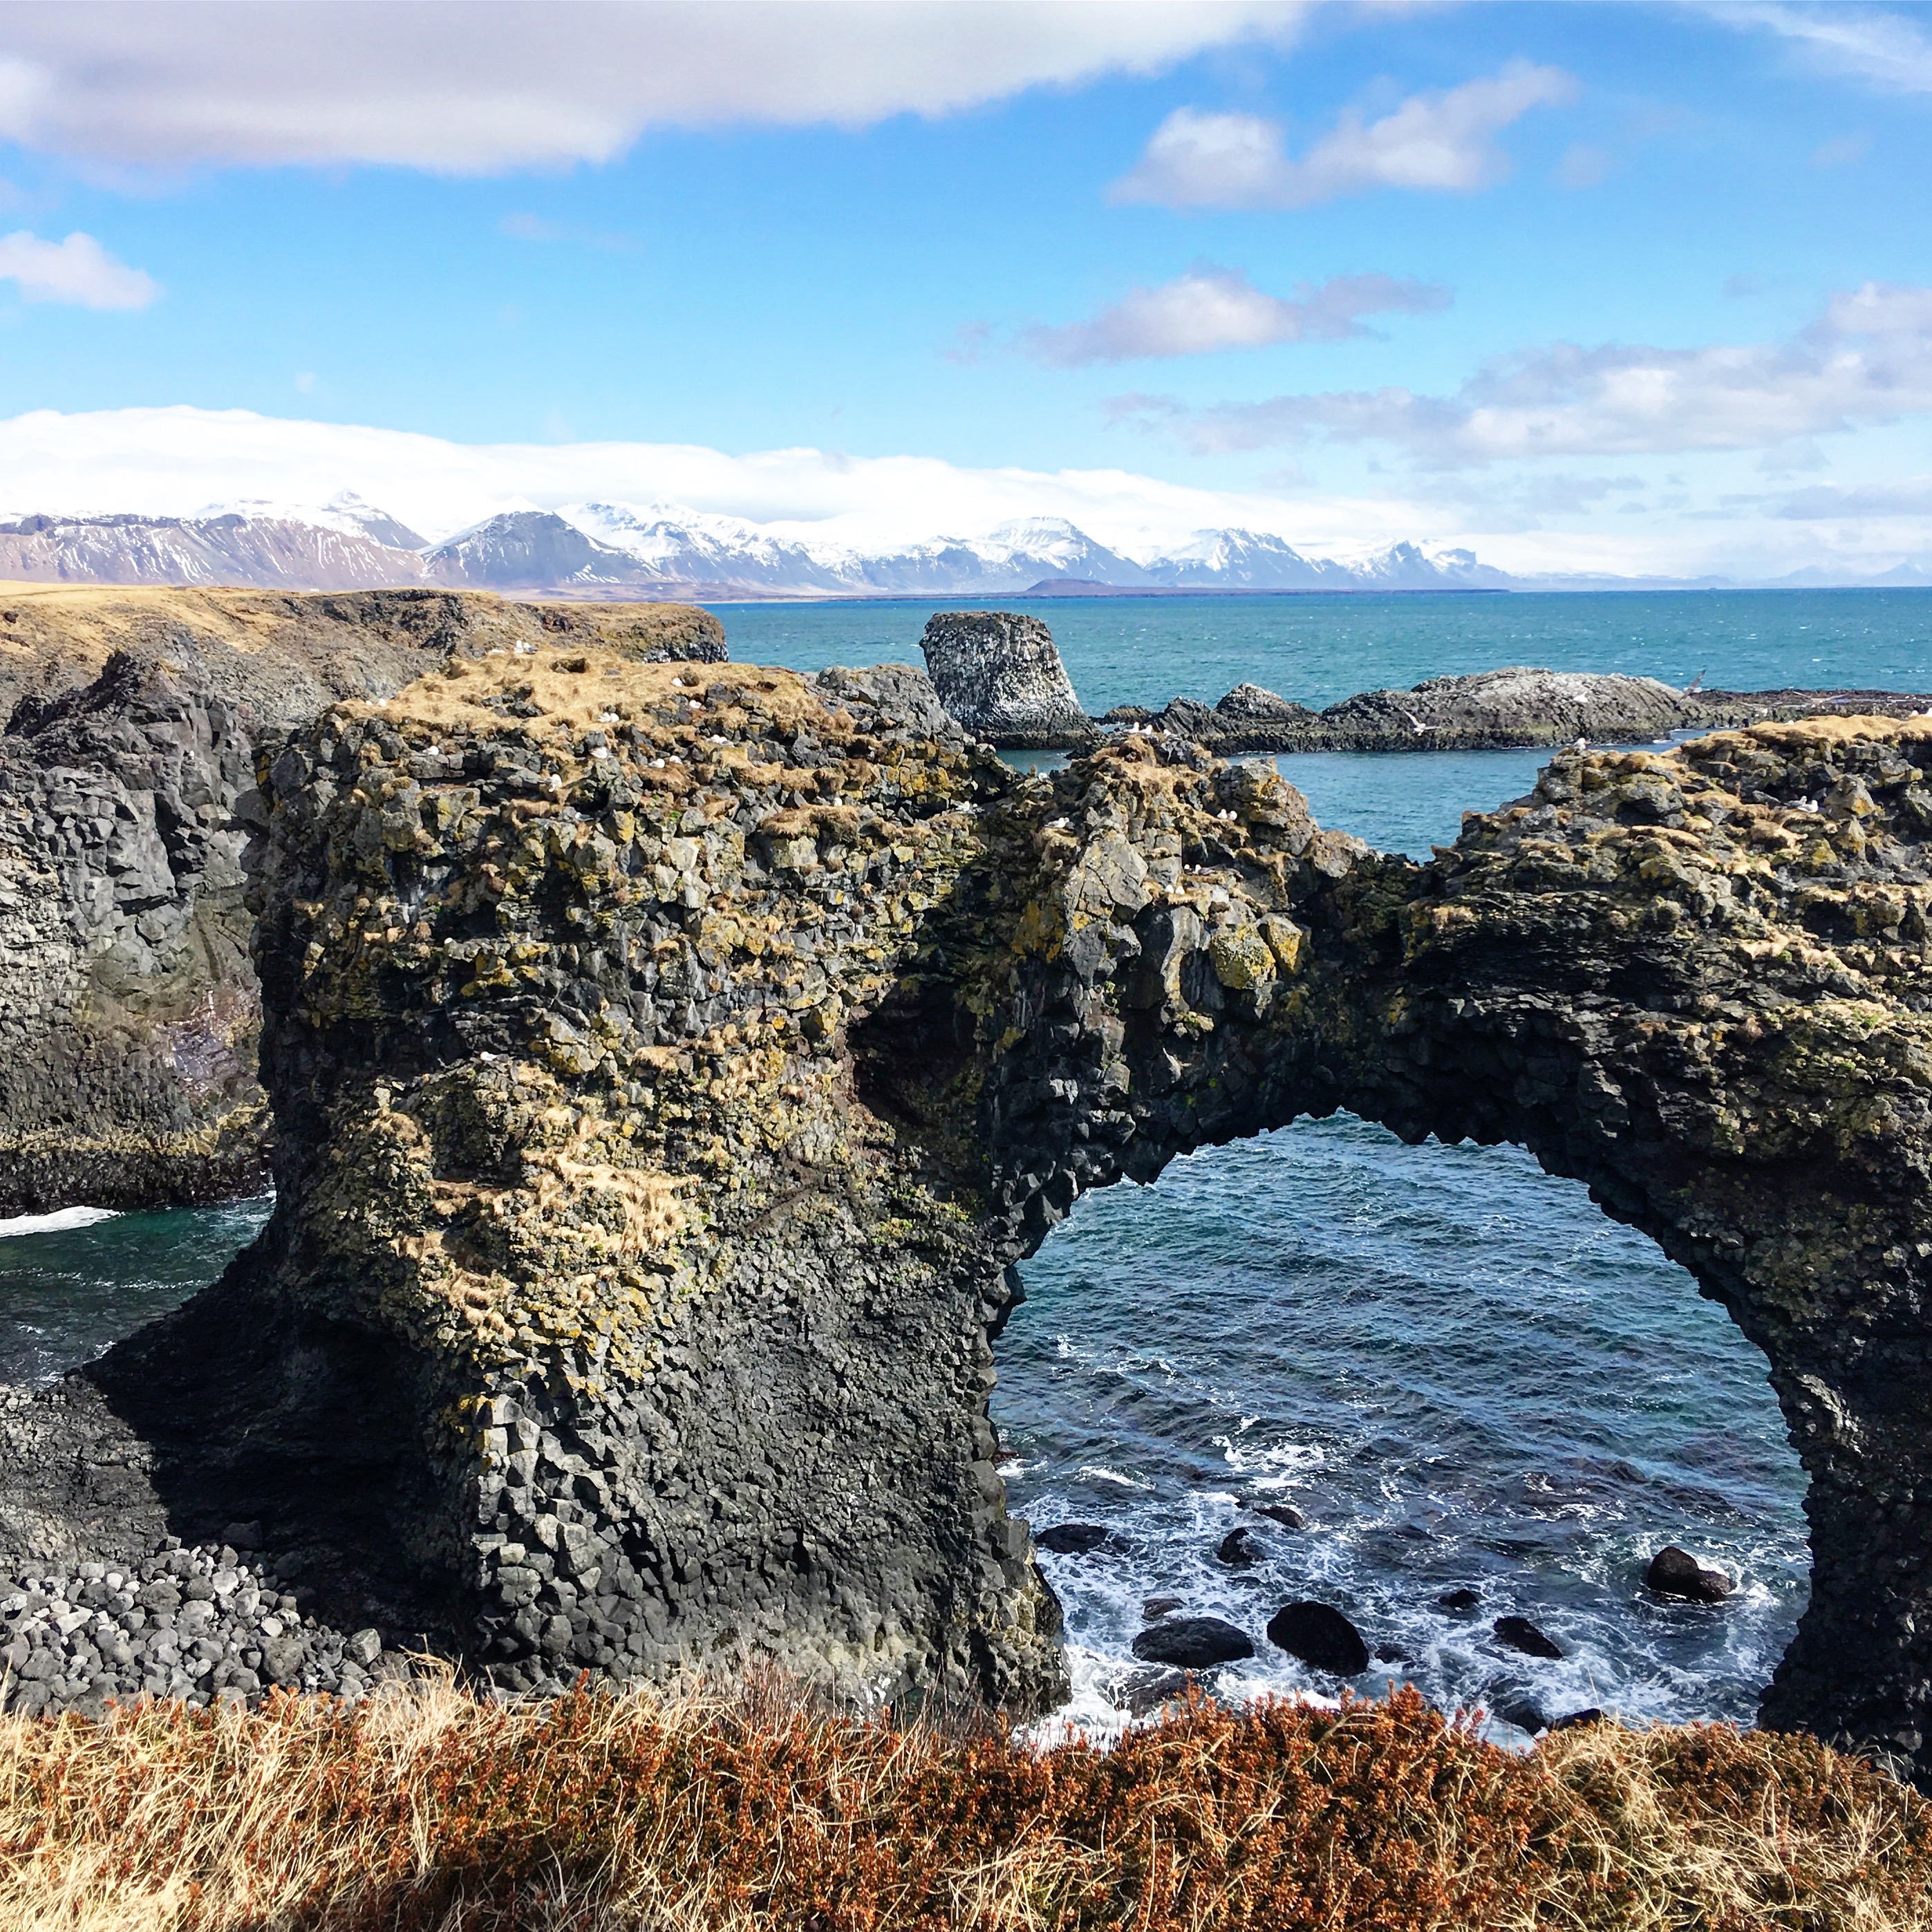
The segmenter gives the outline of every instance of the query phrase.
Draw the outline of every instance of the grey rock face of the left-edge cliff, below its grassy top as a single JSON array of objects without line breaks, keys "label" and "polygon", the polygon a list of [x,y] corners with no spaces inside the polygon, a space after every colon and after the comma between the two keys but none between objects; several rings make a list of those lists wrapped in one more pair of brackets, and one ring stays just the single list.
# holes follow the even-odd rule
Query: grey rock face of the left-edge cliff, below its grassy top
[{"label": "grey rock face of the left-edge cliff, below its grassy top", "polygon": [[226,699],[114,657],[0,736],[0,1213],[267,1175]]}]

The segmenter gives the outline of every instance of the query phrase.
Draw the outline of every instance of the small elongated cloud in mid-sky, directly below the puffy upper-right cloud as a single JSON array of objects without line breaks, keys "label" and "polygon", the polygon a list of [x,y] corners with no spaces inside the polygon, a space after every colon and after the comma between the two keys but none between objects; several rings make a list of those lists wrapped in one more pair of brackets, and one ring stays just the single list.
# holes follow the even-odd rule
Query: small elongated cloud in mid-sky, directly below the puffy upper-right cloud
[{"label": "small elongated cloud in mid-sky, directly below the puffy upper-right cloud", "polygon": [[1082,369],[1136,355],[1202,355],[1277,342],[1341,342],[1366,336],[1364,315],[1426,315],[1449,307],[1449,290],[1389,274],[1343,274],[1294,299],[1267,296],[1238,269],[1202,263],[1159,288],[1136,288],[1092,321],[1030,328],[1020,346],[1034,361]]}]

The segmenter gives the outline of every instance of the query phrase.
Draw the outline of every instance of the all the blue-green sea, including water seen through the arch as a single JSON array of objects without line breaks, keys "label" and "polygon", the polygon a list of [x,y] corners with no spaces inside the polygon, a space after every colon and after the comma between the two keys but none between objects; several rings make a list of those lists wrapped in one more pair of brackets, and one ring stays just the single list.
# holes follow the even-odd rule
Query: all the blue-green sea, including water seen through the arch
[{"label": "all the blue-green sea, including water seen through the arch", "polygon": [[[1090,711],[1248,680],[1323,705],[1497,665],[1712,686],[1932,690],[1932,593],[1053,599]],[[920,663],[933,601],[724,605],[732,657],[800,670]],[[1542,753],[1281,761],[1323,823],[1414,856],[1520,796]],[[0,1238],[0,1376],[83,1360],[209,1279],[265,1204]],[[0,1235],[6,1225],[0,1223]],[[1804,1605],[1804,1474],[1764,1360],[1652,1242],[1513,1148],[1405,1148],[1341,1117],[1177,1161],[1078,1204],[1024,1269],[995,1420],[1016,1511],[1103,1522],[1047,1555],[1076,1721],[1117,1721],[1148,1596],[1260,1636],[1289,1598],[1345,1609],[1445,1706],[1748,1719]],[[1236,1497],[1289,1501],[1275,1530]],[[1264,1559],[1229,1569],[1236,1522]],[[1741,1578],[1658,1605],[1681,1542]],[[1474,1609],[1439,1602],[1474,1590]],[[1565,1650],[1501,1650],[1519,1613]],[[1269,1652],[1223,1689],[1333,1689]],[[1497,1735],[1511,1737],[1507,1727]]]}]

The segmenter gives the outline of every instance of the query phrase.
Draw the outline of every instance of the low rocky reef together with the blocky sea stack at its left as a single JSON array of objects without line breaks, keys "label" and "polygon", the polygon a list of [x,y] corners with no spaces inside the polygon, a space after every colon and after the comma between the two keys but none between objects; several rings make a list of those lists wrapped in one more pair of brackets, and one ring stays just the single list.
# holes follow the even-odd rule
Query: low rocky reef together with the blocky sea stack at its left
[{"label": "low rocky reef together with the blocky sea stack at its left", "polygon": [[1250,752],[1503,752],[1528,746],[1652,744],[1687,730],[1816,715],[1911,717],[1905,692],[1706,692],[1658,678],[1509,667],[1356,692],[1325,711],[1236,684],[1219,703],[1175,697],[1161,711],[1117,705],[1090,719],[1047,626],[1012,611],[943,611],[925,626],[941,703],[1010,752],[1090,750],[1101,730],[1192,738],[1223,757]]}]

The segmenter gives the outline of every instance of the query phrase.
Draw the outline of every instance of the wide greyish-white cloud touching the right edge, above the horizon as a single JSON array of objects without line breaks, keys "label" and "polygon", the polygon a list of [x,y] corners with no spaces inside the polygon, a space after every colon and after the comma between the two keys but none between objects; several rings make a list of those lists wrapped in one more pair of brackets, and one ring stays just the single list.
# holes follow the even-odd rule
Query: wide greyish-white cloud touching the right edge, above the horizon
[{"label": "wide greyish-white cloud touching the right edge, above the horizon", "polygon": [[1932,412],[1932,288],[1866,282],[1789,342],[1586,350],[1490,363],[1453,396],[1406,388],[1186,410],[1130,396],[1117,415],[1171,425],[1200,452],[1325,435],[1393,442],[1426,466],[1507,458],[1752,450]]}]

